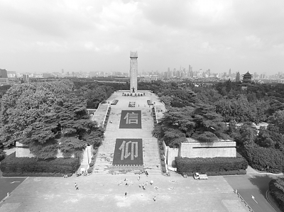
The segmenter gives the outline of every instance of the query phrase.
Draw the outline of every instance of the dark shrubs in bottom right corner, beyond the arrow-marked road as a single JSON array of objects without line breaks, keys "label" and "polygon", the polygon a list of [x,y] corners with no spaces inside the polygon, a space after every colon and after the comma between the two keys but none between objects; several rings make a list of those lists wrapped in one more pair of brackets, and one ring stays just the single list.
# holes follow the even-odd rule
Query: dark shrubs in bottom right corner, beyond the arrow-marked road
[{"label": "dark shrubs in bottom right corner, beyond the arrow-marked road", "polygon": [[273,179],[269,182],[271,196],[278,204],[281,211],[284,211],[284,179]]}]

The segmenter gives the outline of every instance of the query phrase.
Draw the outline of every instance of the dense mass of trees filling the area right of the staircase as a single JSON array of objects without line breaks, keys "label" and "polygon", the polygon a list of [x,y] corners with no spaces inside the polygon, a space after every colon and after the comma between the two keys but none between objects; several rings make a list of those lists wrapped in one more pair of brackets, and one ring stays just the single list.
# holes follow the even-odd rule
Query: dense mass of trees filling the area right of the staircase
[{"label": "dense mass of trees filling the area right of the staircase", "polygon": [[[153,89],[168,109],[153,135],[170,147],[177,147],[186,138],[201,142],[231,139],[252,167],[282,172],[283,84],[251,84],[242,90],[240,83],[227,81],[190,90],[168,83],[153,84]],[[187,92],[193,92],[195,98],[189,98]],[[175,98],[180,104],[173,104]],[[269,123],[267,128],[257,130],[252,124],[263,121]]]}]

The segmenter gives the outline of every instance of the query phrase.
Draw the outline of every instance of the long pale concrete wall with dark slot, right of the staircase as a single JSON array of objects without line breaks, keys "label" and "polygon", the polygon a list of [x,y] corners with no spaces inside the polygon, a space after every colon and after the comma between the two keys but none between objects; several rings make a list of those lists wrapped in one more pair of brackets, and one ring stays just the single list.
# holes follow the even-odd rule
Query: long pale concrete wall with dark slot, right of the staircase
[{"label": "long pale concrete wall with dark slot, right of the staircase", "polygon": [[236,157],[236,142],[189,142],[180,144],[180,157]]}]

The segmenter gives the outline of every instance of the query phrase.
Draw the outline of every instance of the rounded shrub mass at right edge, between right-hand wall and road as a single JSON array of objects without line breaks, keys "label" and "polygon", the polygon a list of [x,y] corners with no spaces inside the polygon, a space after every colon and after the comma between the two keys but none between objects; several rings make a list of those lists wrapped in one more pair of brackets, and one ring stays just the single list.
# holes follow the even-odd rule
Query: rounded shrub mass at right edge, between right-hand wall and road
[{"label": "rounded shrub mass at right edge, between right-hand wall and road", "polygon": [[267,172],[272,173],[283,171],[284,155],[280,150],[255,145],[243,148],[241,152],[254,169],[266,169]]}]

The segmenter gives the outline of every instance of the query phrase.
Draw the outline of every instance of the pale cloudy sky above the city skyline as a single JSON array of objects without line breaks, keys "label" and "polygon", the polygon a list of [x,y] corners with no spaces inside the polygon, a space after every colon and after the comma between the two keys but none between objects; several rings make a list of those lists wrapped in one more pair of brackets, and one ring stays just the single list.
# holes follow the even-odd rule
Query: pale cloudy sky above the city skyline
[{"label": "pale cloudy sky above the city skyline", "polygon": [[0,0],[0,69],[284,72],[283,0]]}]

